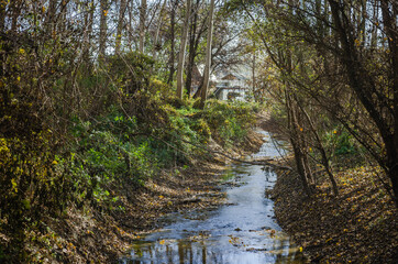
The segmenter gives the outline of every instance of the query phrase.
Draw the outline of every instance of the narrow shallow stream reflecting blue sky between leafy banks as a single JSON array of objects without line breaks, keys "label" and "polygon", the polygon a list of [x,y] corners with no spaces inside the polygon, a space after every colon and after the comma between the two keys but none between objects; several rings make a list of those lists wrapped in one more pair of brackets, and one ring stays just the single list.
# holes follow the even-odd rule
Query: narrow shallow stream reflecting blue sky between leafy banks
[{"label": "narrow shallow stream reflecting blue sky between leafy banks", "polygon": [[[280,155],[275,142],[267,142],[252,157]],[[265,197],[276,174],[263,166],[232,164],[226,175],[228,205],[212,211],[173,213],[166,227],[132,245],[121,263],[153,264],[257,264],[305,263],[301,253],[277,224],[274,202]]]}]

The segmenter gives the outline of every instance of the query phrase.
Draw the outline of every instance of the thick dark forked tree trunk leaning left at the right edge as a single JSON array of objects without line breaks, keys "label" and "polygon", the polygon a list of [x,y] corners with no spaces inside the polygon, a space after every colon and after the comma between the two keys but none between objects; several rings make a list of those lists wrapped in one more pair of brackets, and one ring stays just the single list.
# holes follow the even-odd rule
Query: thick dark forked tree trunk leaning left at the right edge
[{"label": "thick dark forked tree trunk leaning left at the right edge", "polygon": [[[390,92],[394,95],[391,111],[394,112],[393,117],[395,121],[393,124],[389,122],[389,119],[385,117],[384,112],[380,112],[379,107],[377,106],[378,103],[384,103],[386,98],[378,96],[377,87],[375,87],[374,81],[361,58],[361,53],[355,47],[355,36],[353,36],[351,31],[349,18],[345,16],[346,10],[334,0],[329,0],[329,3],[333,15],[334,29],[341,43],[341,62],[345,67],[350,87],[366,109],[372,121],[376,124],[384,145],[386,146],[387,154],[385,156],[378,155],[375,152],[371,152],[371,154],[377,160],[379,165],[389,176],[395,195],[395,202],[398,207],[398,33],[397,22],[393,19],[396,18],[394,16],[396,14],[393,14],[394,8],[389,9],[389,4],[394,6],[394,2],[380,0],[384,32],[390,48],[393,70],[390,74],[394,76],[393,87],[390,87]],[[375,99],[378,99],[378,101],[375,102]]]}]

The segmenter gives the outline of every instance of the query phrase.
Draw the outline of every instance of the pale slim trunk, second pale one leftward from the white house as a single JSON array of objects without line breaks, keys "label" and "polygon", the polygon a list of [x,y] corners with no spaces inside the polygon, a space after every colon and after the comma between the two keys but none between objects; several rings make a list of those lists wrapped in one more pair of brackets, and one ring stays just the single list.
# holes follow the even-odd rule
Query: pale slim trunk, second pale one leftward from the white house
[{"label": "pale slim trunk, second pale one leftward from the white house", "polygon": [[177,97],[183,99],[183,74],[185,65],[185,51],[187,48],[188,29],[189,29],[189,16],[190,16],[190,1],[187,0],[187,13],[184,19],[181,44],[178,54],[178,66],[177,66]]}]

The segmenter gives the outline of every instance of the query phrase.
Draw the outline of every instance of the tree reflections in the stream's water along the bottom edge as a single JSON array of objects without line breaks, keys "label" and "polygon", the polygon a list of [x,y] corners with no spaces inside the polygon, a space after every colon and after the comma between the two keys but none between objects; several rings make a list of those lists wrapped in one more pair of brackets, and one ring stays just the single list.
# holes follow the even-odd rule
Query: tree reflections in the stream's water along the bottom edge
[{"label": "tree reflections in the stream's water along the bottom edge", "polygon": [[133,246],[131,257],[123,260],[123,263],[303,263],[288,240],[275,241],[278,242],[269,251],[244,245],[244,240],[237,240],[241,244],[232,245],[234,249],[189,239],[137,243]]}]

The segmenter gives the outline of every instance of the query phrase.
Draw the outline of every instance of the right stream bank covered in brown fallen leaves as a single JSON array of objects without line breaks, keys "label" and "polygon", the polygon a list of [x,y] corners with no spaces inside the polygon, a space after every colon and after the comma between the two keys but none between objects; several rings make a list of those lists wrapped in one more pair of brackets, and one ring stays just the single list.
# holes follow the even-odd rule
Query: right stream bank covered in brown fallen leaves
[{"label": "right stream bank covered in brown fallen leaves", "polygon": [[[285,163],[292,166],[292,160]],[[280,227],[311,263],[397,263],[398,210],[382,169],[341,156],[334,174],[339,196],[319,173],[317,190],[307,197],[296,173],[279,170],[270,196]]]}]

